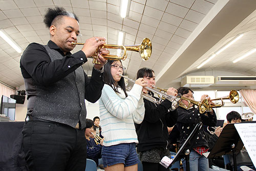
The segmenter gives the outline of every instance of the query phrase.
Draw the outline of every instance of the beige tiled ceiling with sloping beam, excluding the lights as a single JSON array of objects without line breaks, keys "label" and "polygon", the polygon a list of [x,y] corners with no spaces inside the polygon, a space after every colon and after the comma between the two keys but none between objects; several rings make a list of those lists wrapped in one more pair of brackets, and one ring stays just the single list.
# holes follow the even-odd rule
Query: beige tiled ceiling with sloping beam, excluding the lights
[{"label": "beige tiled ceiling with sloping beam, excluding the lights", "polygon": [[[47,44],[49,31],[42,23],[47,8],[62,6],[80,20],[80,42],[92,36],[106,37],[117,44],[119,30],[125,32],[124,45],[152,40],[153,53],[143,61],[129,52],[123,61],[125,74],[136,77],[142,67],[155,71],[157,86],[179,87],[185,75],[255,76],[256,53],[242,61],[232,61],[256,44],[255,0],[136,0],[129,16],[119,15],[118,0],[0,0],[0,29],[24,50],[31,42]],[[244,36],[200,69],[197,66],[240,33]],[[80,50],[77,46],[73,52]],[[19,69],[22,54],[0,38],[0,81],[15,88],[24,84]],[[90,75],[91,59],[83,65]],[[235,74],[234,74],[235,73]]]}]

